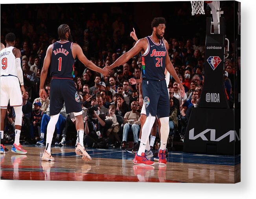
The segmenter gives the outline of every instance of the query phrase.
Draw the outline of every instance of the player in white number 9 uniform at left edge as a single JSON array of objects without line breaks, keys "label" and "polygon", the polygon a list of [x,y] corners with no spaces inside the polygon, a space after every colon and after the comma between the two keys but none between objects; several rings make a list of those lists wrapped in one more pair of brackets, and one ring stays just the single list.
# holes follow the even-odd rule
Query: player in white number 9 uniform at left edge
[{"label": "player in white number 9 uniform at left edge", "polygon": [[[26,91],[23,83],[23,73],[20,65],[20,50],[14,47],[15,34],[6,35],[6,47],[0,52],[0,108],[1,108],[1,139],[4,138],[4,118],[6,117],[7,106],[10,100],[10,106],[15,111],[15,142],[11,152],[26,154],[27,151],[20,145],[20,130],[22,124],[22,93]],[[21,88],[20,88],[21,85]],[[1,144],[1,153],[5,153],[4,146]]]}]

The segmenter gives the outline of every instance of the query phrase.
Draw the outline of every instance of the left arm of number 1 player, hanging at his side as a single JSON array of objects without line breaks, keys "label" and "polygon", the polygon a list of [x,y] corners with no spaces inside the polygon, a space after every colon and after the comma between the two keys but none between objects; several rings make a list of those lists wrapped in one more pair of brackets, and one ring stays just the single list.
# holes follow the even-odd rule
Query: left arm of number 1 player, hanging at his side
[{"label": "left arm of number 1 player, hanging at his side", "polygon": [[46,56],[44,58],[44,65],[41,70],[39,97],[42,100],[45,100],[47,97],[46,91],[44,90],[44,82],[46,80],[48,68],[51,63],[51,55],[52,55],[52,44],[48,47],[48,49],[46,51]]}]

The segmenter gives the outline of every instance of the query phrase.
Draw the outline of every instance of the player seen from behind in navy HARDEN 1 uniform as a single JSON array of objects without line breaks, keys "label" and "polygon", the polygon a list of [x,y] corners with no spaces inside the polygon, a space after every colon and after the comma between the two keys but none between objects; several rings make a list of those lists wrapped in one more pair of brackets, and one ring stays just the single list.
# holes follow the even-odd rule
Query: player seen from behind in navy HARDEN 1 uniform
[{"label": "player seen from behind in navy HARDEN 1 uniform", "polygon": [[102,73],[104,76],[111,72],[108,68],[99,68],[91,61],[89,61],[81,47],[69,40],[72,39],[70,28],[67,24],[62,24],[58,27],[59,41],[51,44],[44,58],[44,65],[41,71],[40,91],[39,95],[42,100],[46,99],[46,91],[44,90],[44,82],[47,76],[48,68],[51,64],[50,75],[51,91],[50,91],[50,116],[51,119],[47,126],[46,135],[46,150],[42,156],[43,161],[54,161],[51,155],[51,143],[55,125],[59,118],[59,113],[63,108],[65,102],[66,113],[74,112],[76,116],[76,129],[79,143],[76,147],[76,154],[82,155],[84,161],[90,161],[91,157],[86,152],[83,146],[84,124],[81,104],[79,103],[79,95],[73,80],[73,65],[77,57],[87,68]]}]

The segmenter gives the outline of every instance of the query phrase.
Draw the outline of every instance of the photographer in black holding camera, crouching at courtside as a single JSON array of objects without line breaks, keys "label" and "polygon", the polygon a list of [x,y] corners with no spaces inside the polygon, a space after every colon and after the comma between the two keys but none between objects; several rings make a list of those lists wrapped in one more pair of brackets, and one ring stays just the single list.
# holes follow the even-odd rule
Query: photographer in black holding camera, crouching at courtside
[{"label": "photographer in black holding camera, crouching at courtside", "polygon": [[99,117],[99,105],[96,104],[88,109],[85,117],[84,143],[91,148],[107,148],[108,139],[103,138],[105,122]]}]

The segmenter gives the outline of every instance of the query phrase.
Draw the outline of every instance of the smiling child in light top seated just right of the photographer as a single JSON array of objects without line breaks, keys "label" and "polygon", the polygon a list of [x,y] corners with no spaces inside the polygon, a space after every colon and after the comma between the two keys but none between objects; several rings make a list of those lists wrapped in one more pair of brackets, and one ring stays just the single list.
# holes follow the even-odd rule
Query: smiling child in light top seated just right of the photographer
[{"label": "smiling child in light top seated just right of the photographer", "polygon": [[117,142],[120,145],[120,139],[118,136],[118,132],[120,131],[119,123],[116,119],[116,106],[110,105],[109,106],[109,116],[106,116],[106,120],[111,120],[113,122],[111,128],[107,130],[107,137],[110,139],[112,143]]}]

